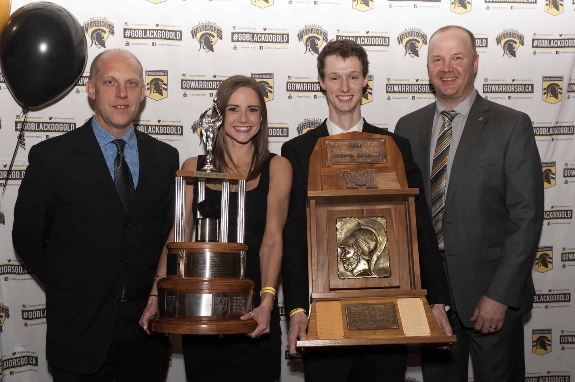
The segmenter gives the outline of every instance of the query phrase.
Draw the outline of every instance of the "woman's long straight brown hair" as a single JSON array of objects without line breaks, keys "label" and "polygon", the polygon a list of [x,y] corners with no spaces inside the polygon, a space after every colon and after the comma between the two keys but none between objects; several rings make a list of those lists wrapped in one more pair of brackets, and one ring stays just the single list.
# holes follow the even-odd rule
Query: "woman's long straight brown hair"
[{"label": "woman's long straight brown hair", "polygon": [[[258,134],[252,138],[252,142],[254,143],[254,153],[252,154],[250,170],[248,171],[248,176],[246,178],[246,181],[250,181],[258,177],[259,173],[262,172],[263,164],[266,162],[267,155],[270,152],[267,149],[267,109],[263,93],[258,82],[251,77],[232,76],[221,83],[220,87],[217,89],[216,96],[217,107],[224,116],[224,122],[222,124],[224,126],[229,98],[232,96],[233,92],[242,87],[255,90],[259,99],[259,110],[262,113],[262,123],[260,124]],[[220,127],[220,130],[223,130],[223,126]],[[227,169],[236,169],[239,172],[239,169],[237,168],[236,163],[233,162],[231,155],[227,155],[228,151],[229,148],[225,143],[225,132],[218,131],[213,149],[214,167],[216,167],[218,171],[222,172],[225,172]],[[227,163],[226,161],[229,161],[230,163]]]}]

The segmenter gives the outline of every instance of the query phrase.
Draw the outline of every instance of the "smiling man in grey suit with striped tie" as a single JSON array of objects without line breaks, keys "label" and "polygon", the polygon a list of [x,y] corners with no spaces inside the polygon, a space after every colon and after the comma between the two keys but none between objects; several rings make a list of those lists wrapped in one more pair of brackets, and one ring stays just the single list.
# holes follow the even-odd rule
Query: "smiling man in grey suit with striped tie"
[{"label": "smiling man in grey suit with striped tie", "polygon": [[523,381],[523,315],[535,293],[531,264],[543,223],[543,185],[531,119],[483,99],[474,88],[474,36],[446,26],[430,38],[436,102],[403,116],[423,173],[450,282],[451,350],[422,353],[429,381]]}]

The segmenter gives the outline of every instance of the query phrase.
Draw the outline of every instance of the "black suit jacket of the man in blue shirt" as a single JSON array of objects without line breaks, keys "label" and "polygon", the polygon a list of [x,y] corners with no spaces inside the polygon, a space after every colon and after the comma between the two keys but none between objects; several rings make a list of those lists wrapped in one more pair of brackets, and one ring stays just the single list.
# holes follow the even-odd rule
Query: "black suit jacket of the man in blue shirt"
[{"label": "black suit jacket of the man in blue shirt", "polygon": [[46,289],[48,362],[67,372],[104,364],[126,275],[145,307],[173,223],[178,151],[139,131],[136,139],[140,177],[128,213],[91,120],[30,149],[12,238]]}]

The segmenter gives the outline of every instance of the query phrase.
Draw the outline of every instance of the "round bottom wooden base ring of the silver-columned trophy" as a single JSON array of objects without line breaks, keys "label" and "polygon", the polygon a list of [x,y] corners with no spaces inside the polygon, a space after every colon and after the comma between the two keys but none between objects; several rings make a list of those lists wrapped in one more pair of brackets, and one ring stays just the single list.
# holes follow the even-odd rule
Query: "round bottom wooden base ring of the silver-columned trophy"
[{"label": "round bottom wooden base ring of the silver-columned trophy", "polygon": [[258,326],[254,319],[222,321],[183,321],[175,318],[150,318],[152,332],[173,334],[241,334],[251,333]]}]

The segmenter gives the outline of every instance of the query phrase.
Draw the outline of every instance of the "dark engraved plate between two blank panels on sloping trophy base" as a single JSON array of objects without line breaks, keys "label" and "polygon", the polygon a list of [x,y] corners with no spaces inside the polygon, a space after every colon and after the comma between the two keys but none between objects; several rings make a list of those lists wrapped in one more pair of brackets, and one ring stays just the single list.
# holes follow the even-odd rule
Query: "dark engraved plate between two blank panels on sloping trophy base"
[{"label": "dark engraved plate between two blank panels on sloping trophy base", "polygon": [[395,304],[346,304],[347,329],[399,328]]}]

